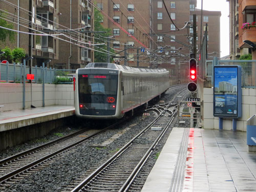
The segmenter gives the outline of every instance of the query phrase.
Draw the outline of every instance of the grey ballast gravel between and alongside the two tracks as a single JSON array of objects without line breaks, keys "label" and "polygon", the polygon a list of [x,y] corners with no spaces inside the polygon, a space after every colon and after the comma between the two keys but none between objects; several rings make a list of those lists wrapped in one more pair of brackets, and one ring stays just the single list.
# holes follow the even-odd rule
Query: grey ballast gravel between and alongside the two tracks
[{"label": "grey ballast gravel between and alongside the two tracks", "polygon": [[[182,88],[176,88],[172,91],[166,93],[160,100],[164,100],[165,102],[174,99],[177,96],[177,93],[181,90],[184,90],[185,86]],[[183,94],[186,91],[183,91]],[[181,95],[183,95],[181,94]],[[176,101],[177,102],[177,101]],[[73,150],[67,152],[60,159],[54,161],[48,167],[36,172],[25,179],[19,181],[12,185],[6,191],[29,191],[29,192],[38,192],[38,191],[61,191],[66,188],[72,181],[77,179],[80,175],[84,174],[88,169],[90,169],[93,165],[97,164],[100,160],[110,155],[111,152],[117,151],[124,144],[130,141],[135,135],[137,135],[145,126],[147,126],[153,119],[154,115],[148,117],[142,117],[142,113],[135,116],[129,122],[123,123],[119,127],[115,127],[110,131],[104,132],[104,134],[100,134],[94,138],[91,138],[88,142],[85,142]],[[177,126],[177,120],[174,121],[173,126]],[[172,126],[172,127],[173,127]],[[183,124],[184,127],[188,127],[189,123],[186,122]],[[111,138],[120,130],[123,130],[126,127],[130,127],[131,129],[126,131],[122,136],[118,139],[114,140],[111,144],[106,147],[92,147],[93,144],[99,144],[104,142],[105,140]],[[65,130],[67,127],[65,127]],[[75,128],[74,128],[75,129]],[[58,132],[61,132],[60,130]],[[171,129],[168,130],[168,134],[171,132]],[[54,135],[47,136],[47,140],[55,137]],[[161,151],[168,135],[165,135],[155,150],[154,154],[157,154]],[[150,138],[149,138],[150,139]],[[148,143],[147,140],[140,140],[142,144]],[[32,148],[38,143],[26,143],[23,145],[18,145],[8,150],[0,152],[0,159],[11,156],[15,153],[27,150],[28,148]],[[19,150],[15,150],[18,148]],[[5,154],[3,154],[5,153]],[[153,167],[153,164],[152,164]]]}]

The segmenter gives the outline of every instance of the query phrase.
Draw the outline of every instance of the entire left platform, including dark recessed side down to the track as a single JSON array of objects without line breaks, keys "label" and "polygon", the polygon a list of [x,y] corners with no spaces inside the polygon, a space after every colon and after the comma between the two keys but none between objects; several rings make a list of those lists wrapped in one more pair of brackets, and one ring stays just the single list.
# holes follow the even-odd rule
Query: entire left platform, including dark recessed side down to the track
[{"label": "entire left platform, including dark recessed side down to the track", "polygon": [[74,121],[74,114],[75,108],[70,105],[0,112],[0,150],[42,137],[70,124]]}]

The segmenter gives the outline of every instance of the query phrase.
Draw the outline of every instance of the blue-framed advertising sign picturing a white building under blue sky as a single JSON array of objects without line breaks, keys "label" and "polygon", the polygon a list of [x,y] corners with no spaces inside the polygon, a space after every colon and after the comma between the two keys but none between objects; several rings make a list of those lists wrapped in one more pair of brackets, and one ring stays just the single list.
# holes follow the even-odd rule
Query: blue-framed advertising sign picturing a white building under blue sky
[{"label": "blue-framed advertising sign picturing a white building under blue sky", "polygon": [[241,66],[214,66],[214,116],[242,117]]}]

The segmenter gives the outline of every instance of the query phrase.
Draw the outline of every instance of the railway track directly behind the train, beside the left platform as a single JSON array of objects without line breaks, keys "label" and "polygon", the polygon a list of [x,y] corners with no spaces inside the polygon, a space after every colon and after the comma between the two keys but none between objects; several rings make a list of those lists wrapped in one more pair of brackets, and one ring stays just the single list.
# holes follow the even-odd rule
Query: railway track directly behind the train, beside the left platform
[{"label": "railway track directly behind the train, beside the left platform", "polygon": [[121,120],[102,130],[81,130],[54,141],[32,148],[0,161],[0,190],[10,187],[15,182],[48,166],[60,158],[63,152],[71,150],[82,142],[122,123]]}]

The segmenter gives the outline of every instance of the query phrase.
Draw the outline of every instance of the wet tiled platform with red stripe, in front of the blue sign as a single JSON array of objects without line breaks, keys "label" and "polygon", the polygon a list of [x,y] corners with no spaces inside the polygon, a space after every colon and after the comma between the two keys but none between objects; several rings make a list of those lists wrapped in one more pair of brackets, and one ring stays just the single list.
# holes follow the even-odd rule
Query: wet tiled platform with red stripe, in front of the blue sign
[{"label": "wet tiled platform with red stripe, in front of the blue sign", "polygon": [[256,153],[246,132],[175,127],[141,191],[256,191]]}]

